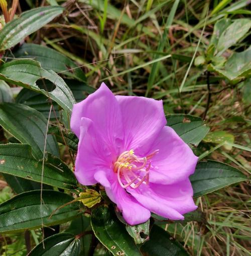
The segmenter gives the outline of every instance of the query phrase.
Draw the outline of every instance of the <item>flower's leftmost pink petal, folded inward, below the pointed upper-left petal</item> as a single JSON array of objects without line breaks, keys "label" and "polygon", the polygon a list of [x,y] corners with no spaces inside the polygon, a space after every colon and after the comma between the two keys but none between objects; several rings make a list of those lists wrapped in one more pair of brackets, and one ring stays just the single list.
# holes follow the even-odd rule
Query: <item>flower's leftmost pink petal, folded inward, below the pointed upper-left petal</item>
[{"label": "flower's leftmost pink petal, folded inward, below the pointed upper-left petal", "polygon": [[80,137],[74,174],[81,184],[93,185],[97,183],[95,173],[108,169],[112,164],[112,155],[108,153],[92,120],[82,117],[79,126]]}]

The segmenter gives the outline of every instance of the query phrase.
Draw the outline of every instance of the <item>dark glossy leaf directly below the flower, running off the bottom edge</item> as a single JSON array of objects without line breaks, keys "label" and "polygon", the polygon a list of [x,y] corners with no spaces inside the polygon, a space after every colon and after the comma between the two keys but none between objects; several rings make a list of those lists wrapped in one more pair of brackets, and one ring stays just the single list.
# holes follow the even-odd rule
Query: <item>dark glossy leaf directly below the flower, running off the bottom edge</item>
[{"label": "dark glossy leaf directly below the flower, running off the bottom edge", "polygon": [[108,207],[100,206],[92,211],[91,226],[95,236],[114,256],[141,255],[124,225]]}]

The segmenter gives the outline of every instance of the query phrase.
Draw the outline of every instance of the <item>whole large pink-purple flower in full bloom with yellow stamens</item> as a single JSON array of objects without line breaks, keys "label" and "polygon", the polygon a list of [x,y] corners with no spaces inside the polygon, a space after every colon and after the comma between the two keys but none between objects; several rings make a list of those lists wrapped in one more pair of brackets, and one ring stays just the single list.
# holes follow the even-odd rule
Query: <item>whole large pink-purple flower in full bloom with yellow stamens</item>
[{"label": "whole large pink-purple flower in full bloom with yellow stamens", "polygon": [[182,220],[197,208],[188,177],[198,158],[166,123],[162,101],[114,96],[104,83],[73,107],[75,175],[102,184],[130,225],[151,212]]}]

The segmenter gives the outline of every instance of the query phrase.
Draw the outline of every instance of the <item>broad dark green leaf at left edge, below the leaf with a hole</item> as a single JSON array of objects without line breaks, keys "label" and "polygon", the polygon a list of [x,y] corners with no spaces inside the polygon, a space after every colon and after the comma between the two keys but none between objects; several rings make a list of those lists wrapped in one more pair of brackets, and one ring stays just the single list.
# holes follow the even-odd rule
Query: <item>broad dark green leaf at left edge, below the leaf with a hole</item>
[{"label": "broad dark green leaf at left edge, below the leaf with a hole", "polygon": [[[29,144],[37,159],[43,158],[47,120],[37,110],[23,104],[0,104],[0,125],[21,143]],[[58,145],[52,135],[46,139],[46,151],[59,156]]]}]

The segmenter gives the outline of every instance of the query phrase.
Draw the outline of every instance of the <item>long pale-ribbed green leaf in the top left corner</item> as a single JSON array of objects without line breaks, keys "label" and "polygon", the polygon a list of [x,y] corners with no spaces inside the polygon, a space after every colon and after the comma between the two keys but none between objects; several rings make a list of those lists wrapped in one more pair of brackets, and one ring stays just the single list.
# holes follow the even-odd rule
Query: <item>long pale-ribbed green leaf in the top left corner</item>
[{"label": "long pale-ribbed green leaf in the top left corner", "polygon": [[56,16],[63,13],[58,6],[41,7],[24,12],[4,26],[0,34],[0,51],[9,49],[28,35],[42,28]]}]

